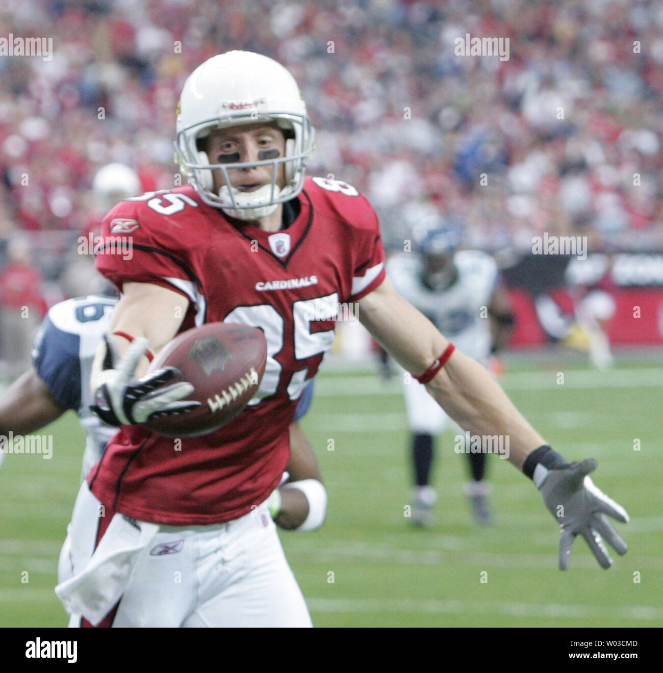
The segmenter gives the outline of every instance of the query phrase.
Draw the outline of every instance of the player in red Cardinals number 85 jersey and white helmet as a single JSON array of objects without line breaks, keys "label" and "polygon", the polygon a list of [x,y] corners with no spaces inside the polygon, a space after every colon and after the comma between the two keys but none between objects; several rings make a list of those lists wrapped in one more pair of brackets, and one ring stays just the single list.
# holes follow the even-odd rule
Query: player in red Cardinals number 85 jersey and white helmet
[{"label": "player in red Cardinals number 85 jersey and white helmet", "polygon": [[[109,337],[122,357],[98,354],[97,409],[122,428],[73,513],[80,572],[57,589],[83,616],[72,625],[310,625],[266,501],[287,463],[298,397],[346,302],[461,427],[510,436],[511,462],[562,512],[561,567],[577,534],[604,567],[600,535],[625,553],[604,513],[627,514],[586,476],[595,462],[565,462],[487,371],[394,291],[378,219],[355,188],[305,178],[314,133],[285,68],[250,52],[209,59],[184,83],[177,129],[189,186],[123,201],[104,220],[108,240],[114,229],[132,237],[130,260],[111,246],[97,259],[122,292]],[[263,329],[265,376],[236,419],[176,450],[137,423],[186,413],[191,386],[135,377],[148,348],[218,320]]]}]

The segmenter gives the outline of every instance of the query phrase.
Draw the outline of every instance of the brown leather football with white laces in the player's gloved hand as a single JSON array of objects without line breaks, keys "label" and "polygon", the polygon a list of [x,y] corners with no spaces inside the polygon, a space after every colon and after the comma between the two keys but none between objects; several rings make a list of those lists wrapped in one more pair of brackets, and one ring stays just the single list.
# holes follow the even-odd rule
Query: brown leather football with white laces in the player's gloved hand
[{"label": "brown leather football with white laces in the player's gloved hand", "polygon": [[207,435],[229,423],[254,396],[265,373],[263,330],[235,322],[210,322],[178,334],[149,371],[176,367],[201,406],[180,415],[152,417],[142,427],[164,437]]}]

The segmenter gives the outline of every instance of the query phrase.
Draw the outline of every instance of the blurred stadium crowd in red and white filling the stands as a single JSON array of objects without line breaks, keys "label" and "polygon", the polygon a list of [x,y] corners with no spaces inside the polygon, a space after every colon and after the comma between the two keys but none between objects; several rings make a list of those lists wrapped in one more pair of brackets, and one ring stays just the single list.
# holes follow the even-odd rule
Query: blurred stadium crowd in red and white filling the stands
[{"label": "blurred stadium crowd in red and white filling the stands", "polygon": [[[655,1],[8,0],[9,34],[53,53],[0,56],[0,252],[27,237],[51,287],[100,218],[101,166],[132,166],[143,190],[185,181],[178,91],[230,49],[295,75],[318,131],[309,174],[363,190],[388,248],[440,219],[487,249],[541,232],[663,244]],[[509,38],[508,59],[456,55],[466,34]]]}]

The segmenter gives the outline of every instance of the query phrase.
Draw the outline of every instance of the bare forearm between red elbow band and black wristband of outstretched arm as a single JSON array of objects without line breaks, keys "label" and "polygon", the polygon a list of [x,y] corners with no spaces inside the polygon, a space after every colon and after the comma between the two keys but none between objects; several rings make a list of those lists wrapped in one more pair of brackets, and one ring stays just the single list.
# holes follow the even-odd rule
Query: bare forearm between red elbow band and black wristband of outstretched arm
[{"label": "bare forearm between red elbow band and black wristband of outstretched arm", "polygon": [[457,350],[426,388],[462,429],[479,437],[501,438],[499,446],[508,446],[508,460],[518,468],[545,444],[488,371]]}]

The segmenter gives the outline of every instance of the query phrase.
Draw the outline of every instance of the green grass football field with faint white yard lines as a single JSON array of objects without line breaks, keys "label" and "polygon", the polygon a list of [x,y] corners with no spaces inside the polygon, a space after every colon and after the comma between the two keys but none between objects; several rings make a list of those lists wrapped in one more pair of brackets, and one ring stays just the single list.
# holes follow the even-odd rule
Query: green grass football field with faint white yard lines
[{"label": "green grass football field with faint white yard lines", "polygon": [[[627,555],[613,555],[604,571],[578,539],[571,569],[558,571],[553,518],[534,485],[497,456],[489,466],[495,523],[476,528],[452,429],[435,464],[435,524],[411,528],[398,381],[381,382],[370,367],[330,366],[303,422],[326,481],[327,521],[312,534],[281,533],[316,626],[663,625],[660,356],[631,355],[598,372],[567,353],[512,355],[502,384],[559,452],[598,460],[596,483],[631,516],[617,524]],[[0,468],[3,627],[66,624],[53,587],[83,433],[71,413],[44,433],[53,434],[51,460],[9,455]]]}]

